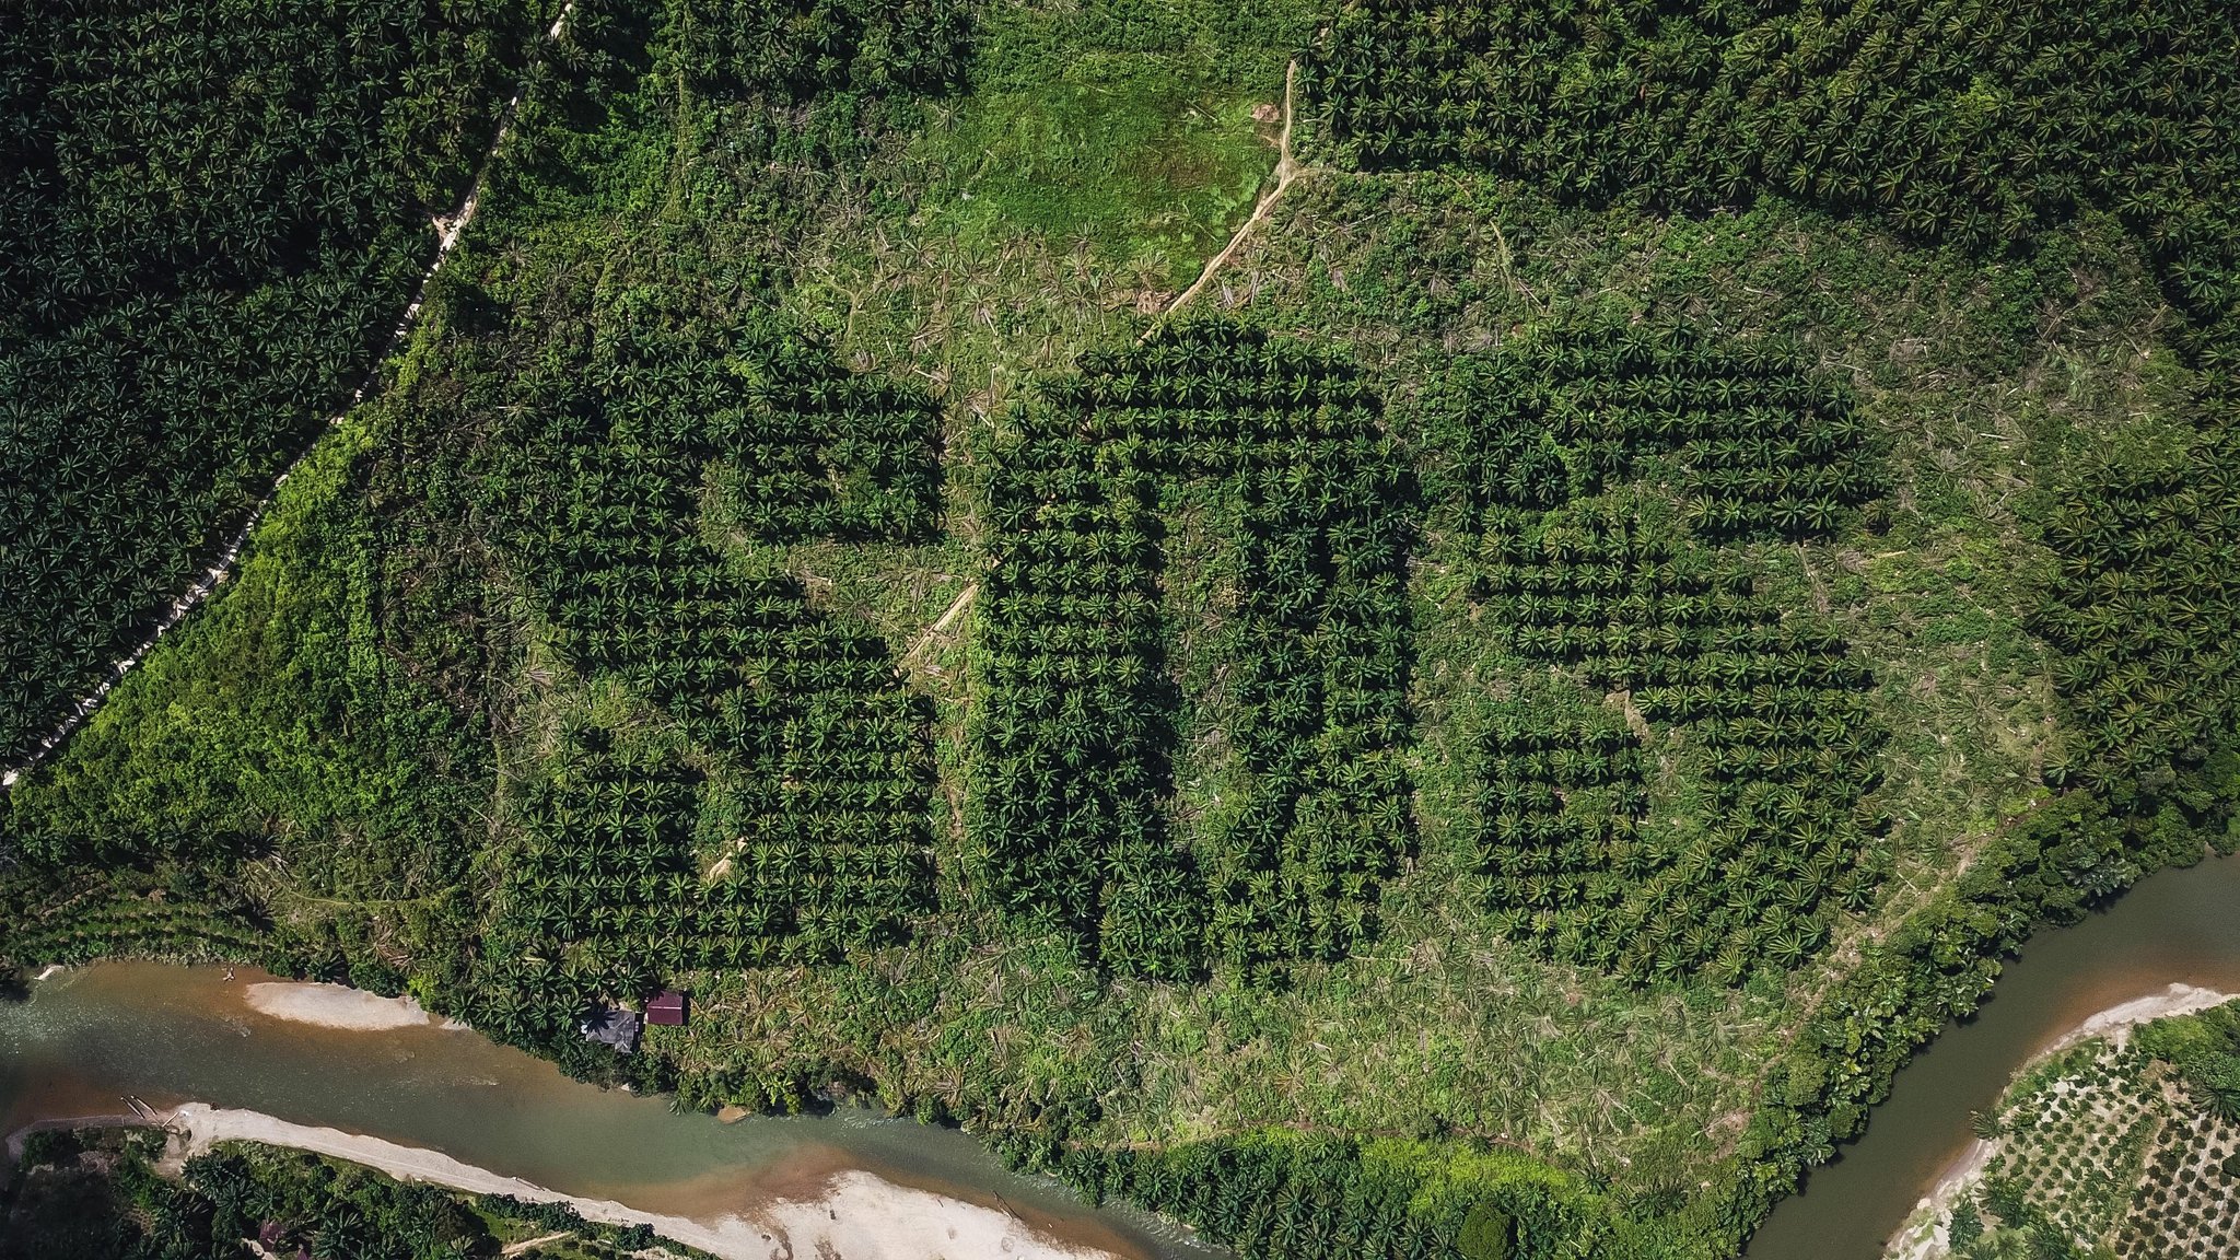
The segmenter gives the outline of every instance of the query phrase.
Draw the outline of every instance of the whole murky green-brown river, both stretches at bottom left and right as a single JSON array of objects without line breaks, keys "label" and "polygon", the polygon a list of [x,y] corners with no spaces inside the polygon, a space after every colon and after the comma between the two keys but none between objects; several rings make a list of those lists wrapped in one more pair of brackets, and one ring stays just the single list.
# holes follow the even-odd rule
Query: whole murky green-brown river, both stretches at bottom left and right
[{"label": "whole murky green-brown river, both stretches at bottom left and right", "polygon": [[[972,1137],[842,1108],[719,1123],[578,1085],[549,1063],[437,1025],[338,1031],[253,1011],[251,975],[101,964],[0,1004],[0,1132],[40,1117],[206,1101],[441,1150],[553,1190],[712,1220],[862,1168],[1017,1213],[1131,1260],[1212,1256],[1180,1231],[1091,1211],[1004,1170]],[[1747,1260],[1870,1260],[1969,1143],[1969,1112],[2092,1011],[2173,982],[2240,991],[2240,859],[2141,881],[2083,924],[2034,937],[1982,1011],[1895,1081],[1866,1137],[1812,1173]]]}]

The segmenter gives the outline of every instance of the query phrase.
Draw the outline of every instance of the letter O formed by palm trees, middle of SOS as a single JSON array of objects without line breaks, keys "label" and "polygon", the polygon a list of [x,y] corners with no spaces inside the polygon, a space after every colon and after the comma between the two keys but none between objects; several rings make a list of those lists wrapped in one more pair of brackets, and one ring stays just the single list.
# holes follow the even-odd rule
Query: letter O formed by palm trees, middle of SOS
[{"label": "letter O formed by palm trees, middle of SOS", "polygon": [[[997,899],[1104,964],[1187,975],[1344,957],[1411,843],[1404,471],[1360,374],[1234,323],[1089,352],[1015,417],[990,482],[968,830]],[[1241,525],[1228,742],[1250,794],[1167,834],[1163,484]]]}]

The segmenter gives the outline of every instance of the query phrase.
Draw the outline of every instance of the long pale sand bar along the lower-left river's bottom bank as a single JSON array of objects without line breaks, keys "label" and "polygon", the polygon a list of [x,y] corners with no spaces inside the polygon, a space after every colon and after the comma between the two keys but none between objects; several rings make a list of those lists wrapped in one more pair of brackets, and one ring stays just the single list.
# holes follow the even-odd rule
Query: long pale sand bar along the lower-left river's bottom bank
[{"label": "long pale sand bar along the lower-left river's bottom bank", "polygon": [[827,1182],[815,1199],[777,1199],[746,1215],[701,1222],[679,1215],[643,1213],[612,1199],[585,1199],[533,1186],[520,1177],[502,1177],[486,1168],[414,1146],[379,1137],[358,1137],[332,1128],[311,1128],[267,1117],[262,1112],[186,1103],[170,1114],[170,1128],[186,1130],[188,1152],[199,1155],[217,1141],[262,1141],[332,1155],[379,1168],[392,1177],[430,1182],[475,1195],[515,1195],[531,1202],[560,1202],[585,1220],[603,1224],[650,1224],[656,1233],[688,1247],[699,1247],[724,1260],[1111,1260],[1107,1251],[1068,1247],[1026,1222],[979,1204],[896,1186],[871,1173],[849,1170]]}]

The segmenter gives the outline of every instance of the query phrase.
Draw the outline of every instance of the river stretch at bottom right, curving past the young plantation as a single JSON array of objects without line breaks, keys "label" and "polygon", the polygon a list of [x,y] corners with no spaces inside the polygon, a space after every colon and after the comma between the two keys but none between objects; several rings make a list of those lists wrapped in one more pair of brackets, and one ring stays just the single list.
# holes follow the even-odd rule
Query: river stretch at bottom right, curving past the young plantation
[{"label": "river stretch at bottom right, curving past the young plantation", "polygon": [[2094,1011],[2177,982],[2240,993],[2240,856],[2164,870],[2081,924],[2034,935],[1976,1018],[1900,1069],[1866,1137],[1774,1208],[1745,1260],[1882,1256],[2016,1067]]}]

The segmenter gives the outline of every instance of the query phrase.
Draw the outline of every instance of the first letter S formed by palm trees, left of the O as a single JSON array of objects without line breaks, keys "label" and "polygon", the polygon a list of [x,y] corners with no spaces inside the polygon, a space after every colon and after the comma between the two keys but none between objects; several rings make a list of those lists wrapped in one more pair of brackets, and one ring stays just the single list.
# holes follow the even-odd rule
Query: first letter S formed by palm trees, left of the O
[{"label": "first letter S formed by palm trees, left of the O", "polygon": [[661,975],[896,939],[932,895],[927,715],[885,643],[793,576],[735,572],[701,525],[726,466],[777,540],[923,534],[932,404],[815,345],[618,341],[482,493],[569,664],[661,706],[690,753],[582,724],[515,798],[479,989],[529,1038]]}]

